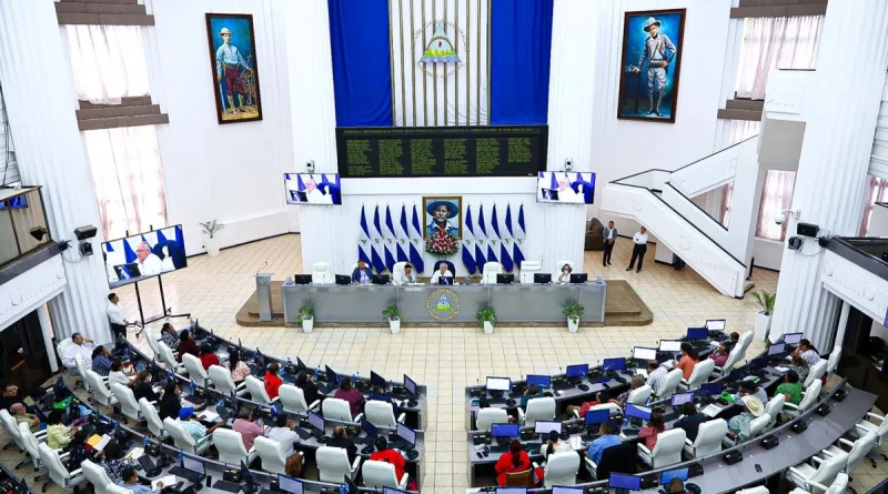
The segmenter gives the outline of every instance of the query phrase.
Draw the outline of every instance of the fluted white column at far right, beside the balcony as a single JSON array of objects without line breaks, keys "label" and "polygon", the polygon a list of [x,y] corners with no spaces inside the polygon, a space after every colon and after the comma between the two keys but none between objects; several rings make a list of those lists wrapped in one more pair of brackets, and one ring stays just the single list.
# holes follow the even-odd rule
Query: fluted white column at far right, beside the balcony
[{"label": "fluted white column at far right, beside the balcony", "polygon": [[[793,209],[801,210],[799,221],[819,225],[821,235],[855,235],[860,224],[888,70],[886,26],[884,0],[836,1],[827,7],[815,88],[806,92],[814,113],[806,125],[793,196]],[[838,299],[821,288],[820,248],[811,239],[805,243],[801,252],[784,252],[770,337],[803,331],[826,352]]]}]

